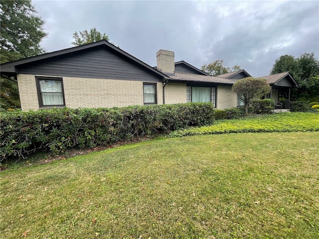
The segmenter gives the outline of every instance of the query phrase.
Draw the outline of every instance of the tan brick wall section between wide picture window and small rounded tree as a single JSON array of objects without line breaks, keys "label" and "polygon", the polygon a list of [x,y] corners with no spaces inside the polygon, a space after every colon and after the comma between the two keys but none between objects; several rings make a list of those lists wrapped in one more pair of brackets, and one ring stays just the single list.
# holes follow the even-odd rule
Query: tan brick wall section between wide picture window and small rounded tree
[{"label": "tan brick wall section between wide picture window and small rounded tree", "polygon": [[237,95],[231,91],[231,86],[217,87],[217,109],[237,107]]}]

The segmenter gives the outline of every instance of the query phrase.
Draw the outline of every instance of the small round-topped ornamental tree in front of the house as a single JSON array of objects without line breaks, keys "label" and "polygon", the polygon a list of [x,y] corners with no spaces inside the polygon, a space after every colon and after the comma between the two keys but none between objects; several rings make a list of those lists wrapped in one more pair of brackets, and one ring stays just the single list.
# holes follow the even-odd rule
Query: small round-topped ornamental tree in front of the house
[{"label": "small round-topped ornamental tree in front of the house", "polygon": [[245,113],[248,115],[248,106],[250,103],[270,92],[270,86],[265,79],[256,79],[247,77],[237,81],[232,91],[235,92],[239,99],[245,103]]}]

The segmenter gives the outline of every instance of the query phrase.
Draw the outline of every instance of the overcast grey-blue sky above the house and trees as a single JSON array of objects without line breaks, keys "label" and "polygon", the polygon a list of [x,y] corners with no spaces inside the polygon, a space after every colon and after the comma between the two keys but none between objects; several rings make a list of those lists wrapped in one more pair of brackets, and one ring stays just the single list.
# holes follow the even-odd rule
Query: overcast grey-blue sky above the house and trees
[{"label": "overcast grey-blue sky above the house and trees", "polygon": [[48,33],[47,52],[72,47],[73,33],[96,27],[145,63],[175,52],[200,68],[223,59],[253,76],[269,74],[281,55],[319,57],[319,1],[33,0]]}]

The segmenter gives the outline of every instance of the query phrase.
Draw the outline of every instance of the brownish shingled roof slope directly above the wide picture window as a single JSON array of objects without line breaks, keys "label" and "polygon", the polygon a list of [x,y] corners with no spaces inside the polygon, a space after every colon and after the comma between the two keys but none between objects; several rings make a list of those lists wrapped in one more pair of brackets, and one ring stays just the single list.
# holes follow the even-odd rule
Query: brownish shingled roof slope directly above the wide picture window
[{"label": "brownish shingled roof slope directly above the wide picture window", "polygon": [[215,77],[215,76],[203,76],[197,74],[188,74],[188,73],[175,73],[175,76],[169,76],[166,78],[172,82],[199,82],[199,83],[216,83],[216,84],[223,84],[223,85],[233,85],[235,81]]}]

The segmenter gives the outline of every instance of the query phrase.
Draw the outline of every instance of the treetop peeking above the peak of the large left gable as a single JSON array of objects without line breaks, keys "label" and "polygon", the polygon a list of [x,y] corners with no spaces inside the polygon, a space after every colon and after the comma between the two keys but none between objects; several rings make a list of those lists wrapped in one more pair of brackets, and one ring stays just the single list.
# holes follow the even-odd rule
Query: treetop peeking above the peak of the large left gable
[{"label": "treetop peeking above the peak of the large left gable", "polygon": [[91,28],[90,31],[84,30],[80,31],[79,33],[74,32],[73,38],[74,41],[72,42],[72,44],[75,46],[80,46],[103,39],[107,41],[109,40],[109,37],[105,33],[102,34],[101,32],[97,31],[95,27]]}]

